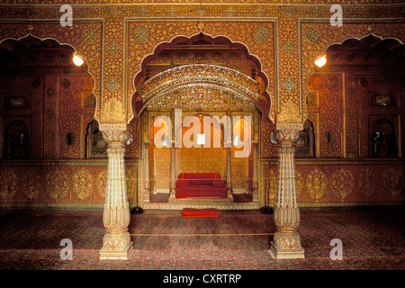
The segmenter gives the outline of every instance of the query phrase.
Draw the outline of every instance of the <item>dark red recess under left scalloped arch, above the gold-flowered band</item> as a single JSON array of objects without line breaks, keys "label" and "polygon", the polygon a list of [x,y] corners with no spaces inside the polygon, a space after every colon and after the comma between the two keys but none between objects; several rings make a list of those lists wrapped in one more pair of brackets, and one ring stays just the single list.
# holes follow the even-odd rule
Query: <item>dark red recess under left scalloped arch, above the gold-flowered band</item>
[{"label": "dark red recess under left scalloped arch, above the gold-flowered band", "polygon": [[23,122],[28,158],[85,157],[85,125],[94,121],[96,104],[94,78],[85,60],[81,66],[72,62],[75,52],[31,33],[0,43],[2,135],[7,125]]}]

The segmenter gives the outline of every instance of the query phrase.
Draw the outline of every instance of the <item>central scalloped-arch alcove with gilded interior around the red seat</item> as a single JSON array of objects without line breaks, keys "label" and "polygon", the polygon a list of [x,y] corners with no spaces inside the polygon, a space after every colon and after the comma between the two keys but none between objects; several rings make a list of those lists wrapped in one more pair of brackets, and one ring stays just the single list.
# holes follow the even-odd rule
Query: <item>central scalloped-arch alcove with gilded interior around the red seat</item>
[{"label": "central scalloped-arch alcove with gilded interior around the red seat", "polygon": [[[156,207],[152,204],[154,194],[169,193],[170,197],[166,197],[169,204],[166,206],[171,208],[180,209],[192,203],[233,209],[243,206],[236,199],[241,199],[238,196],[242,196],[241,202],[246,203],[244,207],[258,208],[257,145],[253,143],[258,143],[260,115],[268,107],[260,99],[261,95],[266,94],[267,80],[260,71],[257,58],[249,55],[241,44],[231,43],[225,37],[213,39],[200,33],[191,38],[179,37],[164,47],[158,46],[155,54],[142,62],[142,67],[135,78],[138,90],[134,94],[132,107],[143,121],[147,182],[144,206]],[[157,150],[155,137],[151,133],[155,120],[161,116],[168,119],[171,133],[167,136],[173,143],[176,140],[175,132],[180,131],[175,129],[176,125],[184,127],[188,117],[227,119],[233,123],[228,127],[231,138],[226,141],[221,136],[220,148],[186,149],[182,145],[184,143],[180,143],[178,151],[167,147]],[[199,124],[202,123],[199,121]],[[220,127],[227,132],[223,126]],[[185,133],[187,129],[180,133],[182,139]],[[202,128],[199,128],[199,132],[195,130],[194,134],[193,140],[197,136],[204,137]],[[211,134],[214,134],[214,130],[211,130]],[[211,135],[207,141],[211,143],[212,140]],[[236,146],[233,145],[234,140],[238,142]],[[224,148],[225,143],[229,149]],[[247,150],[247,153],[240,157],[242,150]],[[229,197],[222,200],[193,199],[191,202],[176,199],[175,193],[172,193],[175,190],[175,177],[192,170],[218,173],[229,185]],[[239,195],[233,197],[233,194]]]}]

